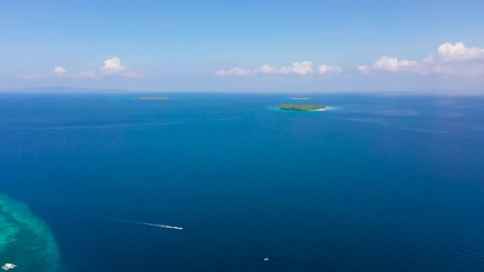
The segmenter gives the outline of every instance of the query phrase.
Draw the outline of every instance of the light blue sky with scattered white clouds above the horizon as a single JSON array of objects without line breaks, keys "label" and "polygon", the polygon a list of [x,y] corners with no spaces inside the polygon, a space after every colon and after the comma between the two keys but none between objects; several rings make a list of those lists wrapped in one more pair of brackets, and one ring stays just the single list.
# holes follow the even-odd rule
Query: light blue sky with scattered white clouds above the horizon
[{"label": "light blue sky with scattered white clouds above the horizon", "polygon": [[484,83],[484,1],[3,0],[0,18],[3,89],[479,91]]}]

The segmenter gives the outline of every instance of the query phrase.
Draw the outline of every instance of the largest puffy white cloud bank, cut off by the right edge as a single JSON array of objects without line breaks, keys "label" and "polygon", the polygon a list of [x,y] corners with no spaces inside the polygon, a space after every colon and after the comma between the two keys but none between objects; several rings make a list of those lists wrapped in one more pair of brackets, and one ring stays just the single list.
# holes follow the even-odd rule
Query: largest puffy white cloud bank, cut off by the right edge
[{"label": "largest puffy white cloud bank, cut off by the right edge", "polygon": [[448,74],[457,76],[484,76],[484,49],[466,47],[463,42],[452,45],[445,42],[422,61],[381,57],[371,66],[357,66],[364,74],[372,72],[408,72],[420,75]]}]

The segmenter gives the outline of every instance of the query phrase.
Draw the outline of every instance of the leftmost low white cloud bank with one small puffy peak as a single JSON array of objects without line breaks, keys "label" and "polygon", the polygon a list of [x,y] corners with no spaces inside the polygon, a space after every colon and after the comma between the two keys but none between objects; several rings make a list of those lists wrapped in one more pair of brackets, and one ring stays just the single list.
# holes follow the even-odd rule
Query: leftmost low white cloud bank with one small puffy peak
[{"label": "leftmost low white cloud bank with one small puffy peak", "polygon": [[104,66],[100,67],[98,71],[81,71],[78,73],[70,73],[62,66],[56,66],[50,73],[33,73],[22,78],[146,78],[142,72],[129,69],[121,64],[119,57],[113,57],[104,61]]}]

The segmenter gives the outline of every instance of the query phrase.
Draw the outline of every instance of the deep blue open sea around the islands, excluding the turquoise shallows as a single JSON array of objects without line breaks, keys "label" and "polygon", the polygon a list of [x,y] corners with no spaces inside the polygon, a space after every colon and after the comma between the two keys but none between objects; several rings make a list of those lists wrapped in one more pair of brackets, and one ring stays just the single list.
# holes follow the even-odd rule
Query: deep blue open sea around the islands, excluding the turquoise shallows
[{"label": "deep blue open sea around the islands, excluding the turquoise shallows", "polygon": [[59,271],[484,271],[484,97],[137,96],[0,95]]}]

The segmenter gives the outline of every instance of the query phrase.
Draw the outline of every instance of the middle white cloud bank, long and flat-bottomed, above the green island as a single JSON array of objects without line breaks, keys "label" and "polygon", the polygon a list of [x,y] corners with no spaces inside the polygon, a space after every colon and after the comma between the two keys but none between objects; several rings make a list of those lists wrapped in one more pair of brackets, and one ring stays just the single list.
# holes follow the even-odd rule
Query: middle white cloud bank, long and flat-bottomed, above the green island
[{"label": "middle white cloud bank, long and flat-bottomed, above the green island", "polygon": [[219,70],[215,74],[217,76],[250,76],[250,75],[289,75],[294,74],[297,76],[307,76],[314,73],[321,75],[335,74],[342,72],[340,66],[328,66],[327,64],[321,64],[318,66],[317,71],[314,69],[314,64],[312,61],[301,61],[294,62],[291,66],[275,67],[270,64],[264,64],[260,68],[255,70],[244,69],[244,68],[234,68],[230,70]]}]

